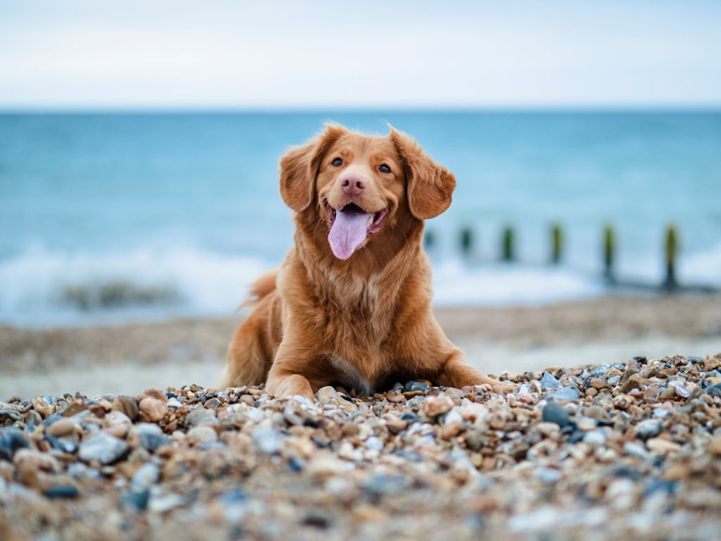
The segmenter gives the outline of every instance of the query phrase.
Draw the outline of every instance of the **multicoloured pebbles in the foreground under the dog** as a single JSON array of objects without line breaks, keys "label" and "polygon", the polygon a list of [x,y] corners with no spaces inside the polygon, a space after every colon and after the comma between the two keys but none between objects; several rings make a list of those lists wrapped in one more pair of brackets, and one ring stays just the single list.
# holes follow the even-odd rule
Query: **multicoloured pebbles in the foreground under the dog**
[{"label": "multicoloured pebbles in the foreground under the dog", "polygon": [[714,539],[721,354],[0,403],[0,539]]}]

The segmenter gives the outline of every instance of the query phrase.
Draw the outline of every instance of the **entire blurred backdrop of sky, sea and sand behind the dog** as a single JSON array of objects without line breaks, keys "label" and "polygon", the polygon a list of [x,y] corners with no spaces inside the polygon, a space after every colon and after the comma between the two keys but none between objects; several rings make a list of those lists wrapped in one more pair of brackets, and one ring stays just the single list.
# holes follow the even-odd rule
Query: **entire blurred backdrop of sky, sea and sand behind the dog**
[{"label": "entire blurred backdrop of sky, sea and sand behind the dog", "polygon": [[456,174],[427,250],[478,366],[721,350],[720,24],[702,0],[4,1],[0,398],[168,361],[213,384],[291,246],[278,159],[328,120]]}]

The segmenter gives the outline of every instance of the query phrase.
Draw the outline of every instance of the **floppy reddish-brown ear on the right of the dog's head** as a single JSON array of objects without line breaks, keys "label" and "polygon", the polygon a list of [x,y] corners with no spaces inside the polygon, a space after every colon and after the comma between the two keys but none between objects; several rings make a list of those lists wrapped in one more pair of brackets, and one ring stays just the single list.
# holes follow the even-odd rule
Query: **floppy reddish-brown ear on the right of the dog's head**
[{"label": "floppy reddish-brown ear on the right of the dog's head", "polygon": [[430,159],[420,145],[405,133],[391,128],[391,140],[405,167],[411,214],[419,220],[438,216],[451,205],[456,177],[446,167]]}]

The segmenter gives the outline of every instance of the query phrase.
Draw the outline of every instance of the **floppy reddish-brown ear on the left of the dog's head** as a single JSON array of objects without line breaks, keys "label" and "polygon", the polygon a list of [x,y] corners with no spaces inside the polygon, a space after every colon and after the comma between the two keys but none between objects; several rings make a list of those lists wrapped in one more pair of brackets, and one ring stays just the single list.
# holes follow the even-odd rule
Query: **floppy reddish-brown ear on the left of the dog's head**
[{"label": "floppy reddish-brown ear on the left of the dog's head", "polygon": [[294,211],[305,210],[313,201],[320,163],[330,146],[346,131],[337,124],[327,124],[309,143],[296,146],[280,158],[280,196]]}]

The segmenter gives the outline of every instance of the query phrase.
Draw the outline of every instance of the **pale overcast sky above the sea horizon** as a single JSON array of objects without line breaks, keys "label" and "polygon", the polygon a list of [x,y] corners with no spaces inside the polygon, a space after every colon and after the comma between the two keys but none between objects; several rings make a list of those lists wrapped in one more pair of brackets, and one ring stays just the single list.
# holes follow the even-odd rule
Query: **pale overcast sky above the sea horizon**
[{"label": "pale overcast sky above the sea horizon", "polygon": [[721,1],[0,0],[0,107],[721,105]]}]

